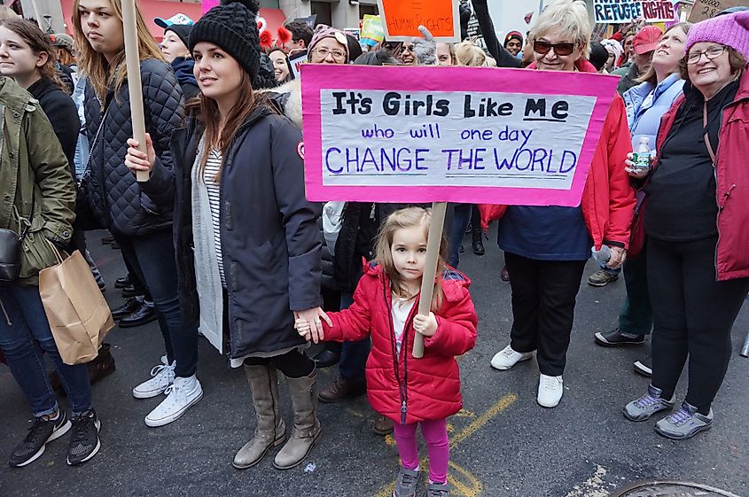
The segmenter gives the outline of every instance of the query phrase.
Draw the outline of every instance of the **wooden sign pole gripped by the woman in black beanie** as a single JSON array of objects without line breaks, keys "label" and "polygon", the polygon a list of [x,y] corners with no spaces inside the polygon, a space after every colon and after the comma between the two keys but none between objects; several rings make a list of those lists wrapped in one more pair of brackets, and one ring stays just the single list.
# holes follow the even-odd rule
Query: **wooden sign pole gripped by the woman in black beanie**
[{"label": "wooden sign pole gripped by the woman in black beanie", "polygon": [[[125,59],[128,68],[128,90],[130,117],[133,121],[133,138],[138,150],[145,151],[145,119],[143,113],[143,88],[140,80],[140,55],[137,45],[137,22],[135,0],[122,0],[122,29],[125,32]],[[137,171],[136,179],[147,182],[148,171]]]}]

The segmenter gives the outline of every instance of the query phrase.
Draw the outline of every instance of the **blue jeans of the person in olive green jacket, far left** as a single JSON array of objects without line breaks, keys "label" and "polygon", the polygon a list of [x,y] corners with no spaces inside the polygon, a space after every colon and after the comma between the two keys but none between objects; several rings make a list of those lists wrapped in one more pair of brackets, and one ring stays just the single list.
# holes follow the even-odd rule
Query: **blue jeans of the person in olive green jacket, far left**
[{"label": "blue jeans of the person in olive green jacket, far left", "polygon": [[47,378],[42,353],[47,353],[57,369],[73,415],[91,408],[89,369],[85,364],[68,366],[52,338],[50,322],[44,314],[38,286],[15,283],[0,285],[0,348],[20,389],[26,395],[35,417],[58,410],[58,400]]}]

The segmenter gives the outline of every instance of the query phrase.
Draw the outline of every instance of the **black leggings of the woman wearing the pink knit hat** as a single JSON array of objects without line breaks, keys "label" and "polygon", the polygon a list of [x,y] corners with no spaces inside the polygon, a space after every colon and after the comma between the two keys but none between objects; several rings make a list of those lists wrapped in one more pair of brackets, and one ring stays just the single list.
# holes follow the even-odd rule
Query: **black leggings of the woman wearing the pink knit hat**
[{"label": "black leggings of the woman wearing the pink knit hat", "polygon": [[706,415],[731,354],[730,330],[749,291],[749,278],[717,282],[717,237],[691,242],[648,239],[652,310],[652,384],[669,399],[689,356],[686,401]]}]

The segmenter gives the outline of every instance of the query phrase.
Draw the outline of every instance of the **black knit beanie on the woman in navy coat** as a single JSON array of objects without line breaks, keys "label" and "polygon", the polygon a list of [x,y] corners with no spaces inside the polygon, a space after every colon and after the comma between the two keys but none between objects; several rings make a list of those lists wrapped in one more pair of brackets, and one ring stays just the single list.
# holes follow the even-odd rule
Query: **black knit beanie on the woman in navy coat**
[{"label": "black knit beanie on the woman in navy coat", "polygon": [[255,86],[260,69],[260,33],[257,28],[257,0],[222,0],[220,5],[206,12],[190,31],[192,51],[200,42],[215,43],[236,58]]}]

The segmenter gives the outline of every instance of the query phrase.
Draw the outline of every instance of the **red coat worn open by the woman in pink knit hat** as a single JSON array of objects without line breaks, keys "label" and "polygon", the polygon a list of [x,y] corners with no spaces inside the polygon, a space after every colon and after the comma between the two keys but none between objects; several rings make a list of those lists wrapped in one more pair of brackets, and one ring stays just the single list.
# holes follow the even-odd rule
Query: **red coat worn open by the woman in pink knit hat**
[{"label": "red coat worn open by the woman in pink knit hat", "polygon": [[[661,150],[685,97],[678,97],[660,120],[657,148]],[[741,76],[736,97],[723,108],[720,140],[715,151],[715,201],[718,204],[718,246],[715,272],[718,281],[749,277],[749,71]],[[658,159],[652,170],[658,167]],[[647,197],[645,197],[647,199]],[[640,208],[644,219],[647,201]]]}]

